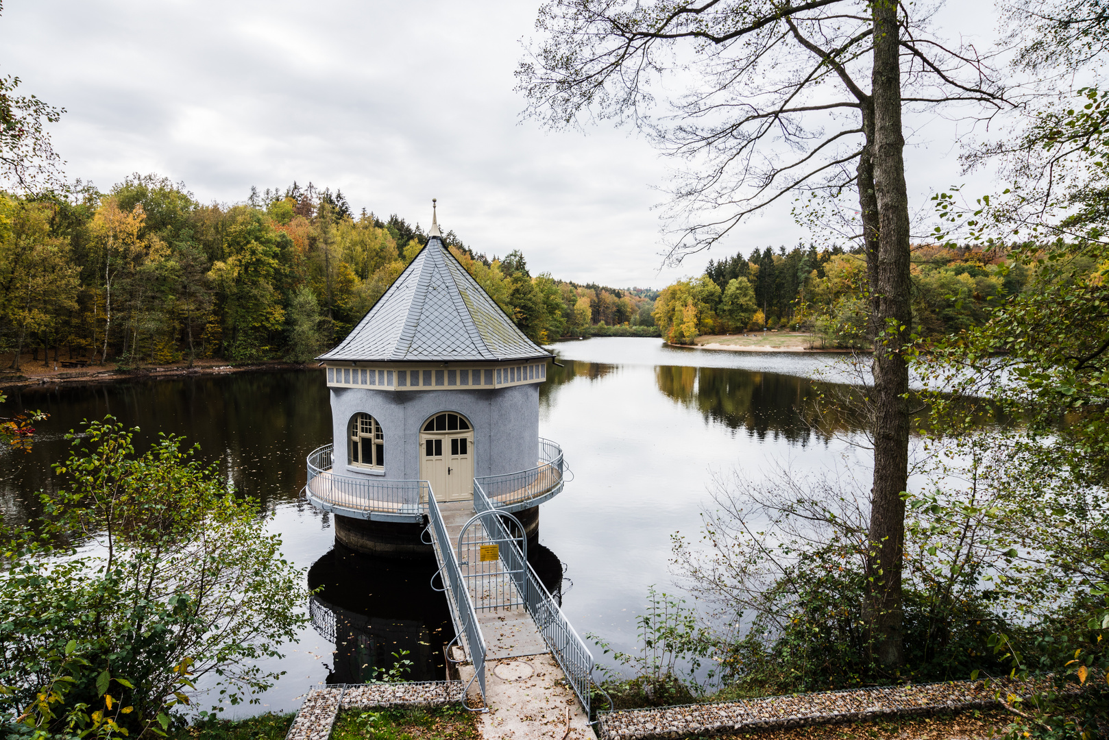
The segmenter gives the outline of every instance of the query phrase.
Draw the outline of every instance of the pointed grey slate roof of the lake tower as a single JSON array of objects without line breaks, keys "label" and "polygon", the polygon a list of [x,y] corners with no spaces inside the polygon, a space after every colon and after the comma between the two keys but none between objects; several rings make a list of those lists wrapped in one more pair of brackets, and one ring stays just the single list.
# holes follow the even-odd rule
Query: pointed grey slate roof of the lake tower
[{"label": "pointed grey slate roof of the lake tower", "polygon": [[438,236],[338,346],[316,359],[459,362],[549,357],[481,290]]}]

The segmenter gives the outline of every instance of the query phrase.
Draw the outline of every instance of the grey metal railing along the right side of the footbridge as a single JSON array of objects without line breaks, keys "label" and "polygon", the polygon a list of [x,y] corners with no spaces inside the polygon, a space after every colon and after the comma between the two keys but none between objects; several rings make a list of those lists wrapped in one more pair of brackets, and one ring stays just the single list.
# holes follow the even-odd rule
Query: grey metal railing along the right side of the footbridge
[{"label": "grey metal railing along the right side of the footbridge", "polygon": [[[553,443],[552,443],[553,444]],[[561,458],[561,455],[560,455]],[[561,460],[560,460],[561,462]],[[478,479],[474,480],[474,510],[494,510],[494,504],[486,496],[485,490]],[[499,507],[497,507],[499,510]],[[589,716],[589,683],[593,672],[593,655],[586,647],[586,642],[578,636],[570,620],[562,614],[550,591],[539,580],[531,564],[527,561],[525,555],[516,546],[515,541],[505,528],[500,517],[484,517],[484,525],[492,531],[489,533],[491,539],[508,540],[506,547],[500,548],[500,558],[505,561],[505,571],[512,576],[516,588],[523,598],[523,606],[531,615],[536,627],[543,636],[543,641],[550,648],[554,660],[561,666],[566,673],[567,681],[578,696],[581,708]],[[488,524],[486,524],[488,523]]]}]

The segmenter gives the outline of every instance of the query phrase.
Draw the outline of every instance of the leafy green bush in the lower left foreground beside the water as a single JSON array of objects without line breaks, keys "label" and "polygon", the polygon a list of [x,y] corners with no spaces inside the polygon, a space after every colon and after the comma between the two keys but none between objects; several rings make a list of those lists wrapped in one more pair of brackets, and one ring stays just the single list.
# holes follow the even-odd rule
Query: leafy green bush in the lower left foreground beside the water
[{"label": "leafy green bush in the lower left foreground beside the water", "polygon": [[0,533],[10,737],[164,736],[201,680],[213,700],[255,701],[281,675],[261,665],[305,621],[303,572],[257,506],[181,438],[138,454],[133,432],[109,417],[70,433],[44,534]]}]

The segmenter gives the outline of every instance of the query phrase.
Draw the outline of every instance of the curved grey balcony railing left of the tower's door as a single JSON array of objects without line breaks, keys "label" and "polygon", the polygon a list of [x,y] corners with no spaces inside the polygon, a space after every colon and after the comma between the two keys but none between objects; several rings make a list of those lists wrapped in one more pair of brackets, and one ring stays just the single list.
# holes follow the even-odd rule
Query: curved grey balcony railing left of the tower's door
[{"label": "curved grey balcony railing left of the tower's door", "polygon": [[332,445],[308,455],[305,497],[316,508],[343,516],[378,521],[424,520],[421,501],[430,487],[426,480],[386,480],[336,475]]}]

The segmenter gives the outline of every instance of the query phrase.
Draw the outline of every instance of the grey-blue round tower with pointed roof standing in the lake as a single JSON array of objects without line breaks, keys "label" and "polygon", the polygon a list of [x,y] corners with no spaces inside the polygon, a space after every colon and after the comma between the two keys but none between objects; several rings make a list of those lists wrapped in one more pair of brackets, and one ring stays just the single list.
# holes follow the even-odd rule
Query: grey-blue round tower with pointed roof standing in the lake
[{"label": "grey-blue round tower with pointed roof standing in the lake", "polygon": [[475,487],[532,539],[538,504],[562,489],[562,453],[539,437],[552,355],[529,339],[444,244],[427,244],[335,348],[317,359],[333,444],[308,457],[305,495],[355,550],[431,557],[427,499]]}]

